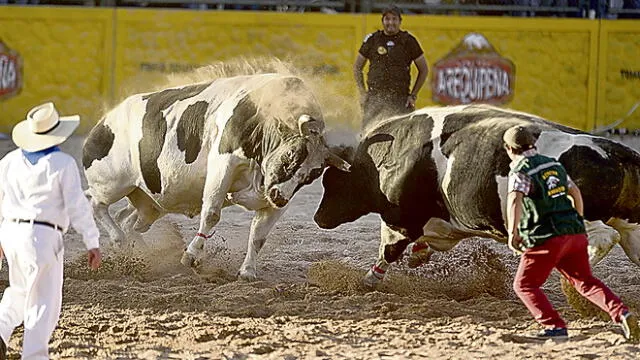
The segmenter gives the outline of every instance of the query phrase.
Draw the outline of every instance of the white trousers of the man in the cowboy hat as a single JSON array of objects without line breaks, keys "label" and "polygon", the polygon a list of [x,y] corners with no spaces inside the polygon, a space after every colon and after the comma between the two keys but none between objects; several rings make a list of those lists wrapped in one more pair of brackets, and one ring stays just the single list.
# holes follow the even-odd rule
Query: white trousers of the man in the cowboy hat
[{"label": "white trousers of the man in the cowboy hat", "polygon": [[62,306],[62,233],[5,221],[0,243],[9,264],[9,287],[0,301],[0,336],[9,344],[15,327],[24,322],[22,359],[49,359],[49,340]]}]

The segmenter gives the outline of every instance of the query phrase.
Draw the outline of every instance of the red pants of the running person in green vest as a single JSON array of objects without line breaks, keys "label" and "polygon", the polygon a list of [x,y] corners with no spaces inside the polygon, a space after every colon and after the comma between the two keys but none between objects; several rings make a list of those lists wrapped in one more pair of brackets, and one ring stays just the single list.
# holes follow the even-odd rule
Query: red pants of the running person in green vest
[{"label": "red pants of the running person in green vest", "polygon": [[544,244],[527,249],[520,258],[520,265],[513,282],[513,289],[529,312],[547,328],[565,328],[566,324],[553,308],[540,287],[553,268],[611,319],[619,321],[627,307],[600,280],[591,274],[585,234],[562,235],[547,240]]}]

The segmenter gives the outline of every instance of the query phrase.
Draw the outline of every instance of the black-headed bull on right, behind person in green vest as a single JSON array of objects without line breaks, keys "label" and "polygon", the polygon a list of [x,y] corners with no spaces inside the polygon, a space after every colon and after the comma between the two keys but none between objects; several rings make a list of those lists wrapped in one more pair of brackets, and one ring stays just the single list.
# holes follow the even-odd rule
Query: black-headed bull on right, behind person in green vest
[{"label": "black-headed bull on right, behind person in green vest", "polygon": [[424,108],[388,119],[363,135],[350,172],[328,169],[315,221],[334,228],[381,216],[373,286],[412,246],[409,265],[473,236],[506,242],[509,158],[502,136],[534,129],[541,154],[557,158],[584,196],[592,264],[619,243],[640,265],[640,154],[618,142],[534,115],[486,105]]}]

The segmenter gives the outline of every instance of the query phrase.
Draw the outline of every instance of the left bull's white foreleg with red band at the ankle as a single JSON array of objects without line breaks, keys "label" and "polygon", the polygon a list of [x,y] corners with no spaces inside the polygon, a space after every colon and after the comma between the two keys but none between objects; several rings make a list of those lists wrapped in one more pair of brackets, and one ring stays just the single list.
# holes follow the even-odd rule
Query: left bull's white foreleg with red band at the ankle
[{"label": "left bull's white foreleg with red band at the ankle", "polygon": [[237,161],[231,154],[210,154],[207,161],[207,178],[202,195],[200,211],[200,227],[187,249],[182,253],[180,263],[195,267],[196,259],[204,249],[204,240],[211,229],[220,221],[220,211],[225,203],[227,193],[233,182]]}]

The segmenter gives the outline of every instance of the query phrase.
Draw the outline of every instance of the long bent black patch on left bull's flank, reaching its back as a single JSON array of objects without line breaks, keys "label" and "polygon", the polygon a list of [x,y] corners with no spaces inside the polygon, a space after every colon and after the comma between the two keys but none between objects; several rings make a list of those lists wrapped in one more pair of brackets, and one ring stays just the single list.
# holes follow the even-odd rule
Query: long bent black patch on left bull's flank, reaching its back
[{"label": "long bent black patch on left bull's flank, reaching its back", "polygon": [[147,106],[142,117],[142,139],[138,143],[138,148],[142,178],[152,193],[158,194],[162,191],[158,158],[167,135],[167,121],[162,114],[163,110],[178,101],[200,94],[210,85],[210,83],[190,85],[143,96],[142,100],[147,100]]}]

